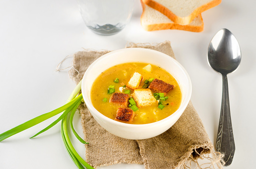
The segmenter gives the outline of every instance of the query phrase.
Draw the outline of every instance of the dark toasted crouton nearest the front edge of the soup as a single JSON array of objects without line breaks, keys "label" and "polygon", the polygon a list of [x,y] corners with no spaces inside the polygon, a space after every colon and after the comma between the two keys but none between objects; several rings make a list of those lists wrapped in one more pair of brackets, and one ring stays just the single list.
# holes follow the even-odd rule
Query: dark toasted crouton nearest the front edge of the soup
[{"label": "dark toasted crouton nearest the front edge of the soup", "polygon": [[132,122],[134,115],[135,113],[132,109],[119,107],[116,112],[115,120]]}]

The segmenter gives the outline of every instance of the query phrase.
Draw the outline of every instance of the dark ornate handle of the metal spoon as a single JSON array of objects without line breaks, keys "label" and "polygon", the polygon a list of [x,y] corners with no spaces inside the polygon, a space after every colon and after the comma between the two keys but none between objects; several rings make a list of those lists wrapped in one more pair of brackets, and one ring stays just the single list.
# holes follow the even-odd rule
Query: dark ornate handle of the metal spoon
[{"label": "dark ornate handle of the metal spoon", "polygon": [[222,74],[222,102],[216,140],[216,150],[224,154],[225,165],[230,165],[234,156],[234,137],[228,98],[227,76]]}]

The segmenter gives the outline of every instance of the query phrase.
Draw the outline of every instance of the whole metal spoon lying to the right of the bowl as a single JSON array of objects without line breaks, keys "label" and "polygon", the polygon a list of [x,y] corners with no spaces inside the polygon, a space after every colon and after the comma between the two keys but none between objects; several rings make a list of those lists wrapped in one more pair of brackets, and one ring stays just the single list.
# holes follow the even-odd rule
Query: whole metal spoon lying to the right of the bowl
[{"label": "whole metal spoon lying to the right of the bowl", "polygon": [[208,62],[222,74],[222,102],[216,140],[216,150],[224,154],[225,165],[230,165],[234,155],[234,137],[231,124],[227,74],[234,71],[241,60],[241,51],[234,35],[227,29],[219,30],[208,47]]}]

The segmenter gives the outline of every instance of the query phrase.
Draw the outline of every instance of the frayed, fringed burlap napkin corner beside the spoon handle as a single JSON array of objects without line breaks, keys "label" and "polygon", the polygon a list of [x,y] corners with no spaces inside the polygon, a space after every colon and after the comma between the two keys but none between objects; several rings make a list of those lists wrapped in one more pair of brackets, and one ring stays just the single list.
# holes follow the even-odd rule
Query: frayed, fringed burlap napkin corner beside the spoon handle
[{"label": "frayed, fringed burlap napkin corner beside the spoon handle", "polygon": [[[200,148],[200,152],[198,151]],[[176,165],[175,169],[192,168],[192,164],[196,165],[195,169],[206,168],[223,168],[225,162],[223,161],[224,154],[214,151],[211,143],[204,145],[191,145],[189,151],[181,157],[181,160]],[[198,159],[207,159],[209,162],[199,164]]]}]

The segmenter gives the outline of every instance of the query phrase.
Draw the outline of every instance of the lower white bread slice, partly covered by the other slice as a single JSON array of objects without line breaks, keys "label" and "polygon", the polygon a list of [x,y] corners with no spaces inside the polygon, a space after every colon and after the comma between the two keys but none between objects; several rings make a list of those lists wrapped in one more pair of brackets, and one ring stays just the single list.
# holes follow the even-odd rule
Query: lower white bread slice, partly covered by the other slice
[{"label": "lower white bread slice, partly covered by the other slice", "polygon": [[203,31],[203,20],[201,14],[195,17],[188,25],[180,25],[174,23],[161,12],[144,4],[141,0],[143,12],[141,14],[141,25],[147,31],[162,30],[162,29],[178,29],[193,32]]}]

